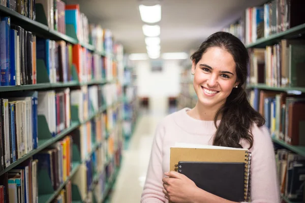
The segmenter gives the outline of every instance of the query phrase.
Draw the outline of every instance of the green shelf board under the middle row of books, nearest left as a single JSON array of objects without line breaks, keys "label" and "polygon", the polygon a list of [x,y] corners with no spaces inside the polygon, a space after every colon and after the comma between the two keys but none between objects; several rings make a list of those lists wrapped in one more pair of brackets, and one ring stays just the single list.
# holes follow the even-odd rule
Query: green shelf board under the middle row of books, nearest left
[{"label": "green shelf board under the middle row of books, nearest left", "polygon": [[78,127],[78,125],[79,125],[79,123],[72,122],[71,126],[69,128],[67,128],[67,129],[63,130],[62,132],[60,132],[59,134],[57,134],[56,137],[54,137],[54,138],[52,138],[50,140],[38,140],[38,147],[37,147],[37,149],[32,150],[31,152],[25,154],[23,157],[21,157],[17,161],[11,163],[11,165],[6,167],[5,170],[0,172],[0,176],[2,176],[3,174],[7,173],[12,168],[14,168],[15,166],[19,165],[20,163],[22,163],[26,159],[31,158],[34,154],[37,154],[41,150],[47,148],[48,146],[52,145],[53,143],[57,142],[58,140],[64,138],[69,132],[71,132],[72,130],[76,129]]}]

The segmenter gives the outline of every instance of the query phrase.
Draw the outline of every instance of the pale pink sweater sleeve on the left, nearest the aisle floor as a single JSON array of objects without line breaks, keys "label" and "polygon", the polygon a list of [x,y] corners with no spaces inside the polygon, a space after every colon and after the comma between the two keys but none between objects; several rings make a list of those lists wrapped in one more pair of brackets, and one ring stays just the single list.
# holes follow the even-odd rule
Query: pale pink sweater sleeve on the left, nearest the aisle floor
[{"label": "pale pink sweater sleeve on the left, nearest the aisle floor", "polygon": [[164,127],[159,123],[151,147],[150,159],[147,169],[146,180],[142,192],[141,203],[164,203],[165,195],[162,191],[162,146]]}]

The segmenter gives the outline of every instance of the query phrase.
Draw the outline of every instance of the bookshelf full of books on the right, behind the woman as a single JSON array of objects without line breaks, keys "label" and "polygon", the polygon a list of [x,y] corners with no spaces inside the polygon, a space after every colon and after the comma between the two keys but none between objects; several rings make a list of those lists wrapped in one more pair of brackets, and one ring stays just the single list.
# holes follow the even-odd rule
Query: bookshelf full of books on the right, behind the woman
[{"label": "bookshelf full of books on the right, behind the woman", "polygon": [[[299,47],[305,48],[302,43],[305,18],[301,17],[302,10],[299,9],[303,6],[302,1],[288,4],[270,0],[263,5],[247,8],[237,23],[224,28],[238,37],[248,49],[250,66],[247,93],[251,105],[266,119],[265,125],[275,144],[280,188],[284,188],[281,198],[282,202],[287,203],[305,201],[305,190],[297,188],[297,185],[304,184],[303,181],[293,179],[301,174],[295,174],[297,167],[291,161],[300,163],[305,157],[305,145],[301,142],[305,132],[301,130],[302,119],[297,115],[303,111],[297,108],[301,108],[304,97],[305,86],[300,82],[304,74],[299,71],[303,67],[296,65],[305,54],[302,54],[303,51],[293,51]],[[250,17],[255,14],[256,19]],[[251,29],[247,30],[249,26]],[[299,106],[294,106],[297,103]],[[284,175],[286,178],[281,178]],[[296,187],[289,188],[288,184]]]}]

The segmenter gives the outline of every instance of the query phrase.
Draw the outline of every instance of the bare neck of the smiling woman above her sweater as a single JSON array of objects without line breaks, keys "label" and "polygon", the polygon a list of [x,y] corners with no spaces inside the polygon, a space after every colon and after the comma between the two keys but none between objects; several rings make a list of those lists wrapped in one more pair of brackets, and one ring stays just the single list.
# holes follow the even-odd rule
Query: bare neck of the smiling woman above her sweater
[{"label": "bare neck of the smiling woman above her sweater", "polygon": [[211,121],[214,120],[219,108],[220,107],[206,107],[200,104],[199,101],[197,101],[196,106],[188,112],[188,115],[197,120]]}]

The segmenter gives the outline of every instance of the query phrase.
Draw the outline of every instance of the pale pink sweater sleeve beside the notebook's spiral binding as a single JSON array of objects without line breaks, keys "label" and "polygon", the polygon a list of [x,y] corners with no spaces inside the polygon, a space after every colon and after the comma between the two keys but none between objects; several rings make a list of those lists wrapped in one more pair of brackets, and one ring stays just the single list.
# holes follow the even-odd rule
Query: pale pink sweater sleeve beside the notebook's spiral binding
[{"label": "pale pink sweater sleeve beside the notebook's spiral binding", "polygon": [[278,203],[280,190],[271,137],[265,126],[253,126],[252,134],[254,141],[250,163],[251,202]]}]

